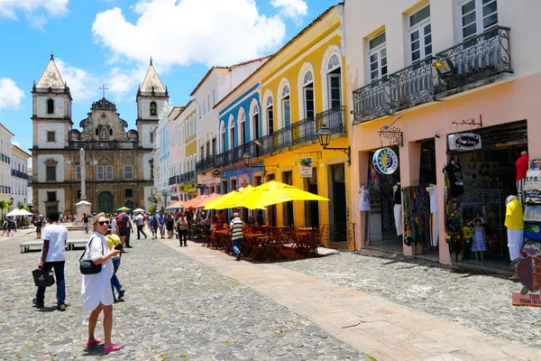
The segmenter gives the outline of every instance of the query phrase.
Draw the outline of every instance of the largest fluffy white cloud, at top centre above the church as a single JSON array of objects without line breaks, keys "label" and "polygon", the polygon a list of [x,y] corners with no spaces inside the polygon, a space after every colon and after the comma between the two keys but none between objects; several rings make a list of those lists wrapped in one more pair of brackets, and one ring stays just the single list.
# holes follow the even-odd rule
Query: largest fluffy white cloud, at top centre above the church
[{"label": "largest fluffy white cloud, at top centre above the church", "polygon": [[114,7],[92,25],[113,58],[146,63],[152,55],[164,67],[228,65],[265,55],[285,37],[281,15],[259,14],[254,0],[144,0],[132,10],[136,23]]}]

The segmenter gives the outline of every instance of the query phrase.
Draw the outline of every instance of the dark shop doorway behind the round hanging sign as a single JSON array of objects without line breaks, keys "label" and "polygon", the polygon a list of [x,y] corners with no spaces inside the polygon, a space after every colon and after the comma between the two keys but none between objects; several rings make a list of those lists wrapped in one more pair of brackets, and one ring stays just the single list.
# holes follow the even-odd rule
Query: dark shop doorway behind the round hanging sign
[{"label": "dark shop doorway behind the round hanging sign", "polygon": [[[398,147],[390,149],[399,154]],[[400,169],[398,167],[391,174],[382,174],[377,171],[372,162],[375,152],[369,153],[370,163],[366,184],[370,194],[371,210],[368,212],[369,236],[364,238],[365,245],[402,253],[402,233],[401,229],[397,232],[394,215],[394,196],[395,194],[399,196],[399,190],[396,192],[393,190],[393,188],[400,188]]]}]

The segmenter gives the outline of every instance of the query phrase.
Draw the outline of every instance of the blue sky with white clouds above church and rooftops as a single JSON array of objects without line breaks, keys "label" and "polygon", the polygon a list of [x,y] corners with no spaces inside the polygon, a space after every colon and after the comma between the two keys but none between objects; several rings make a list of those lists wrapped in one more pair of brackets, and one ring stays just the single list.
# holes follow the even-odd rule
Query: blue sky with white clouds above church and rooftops
[{"label": "blue sky with white clouds above church and rooftops", "polygon": [[[32,147],[32,81],[50,52],[73,97],[72,121],[114,101],[135,128],[135,95],[152,57],[172,106],[211,66],[271,54],[339,0],[0,0],[0,123]],[[29,152],[30,153],[30,152]]]}]

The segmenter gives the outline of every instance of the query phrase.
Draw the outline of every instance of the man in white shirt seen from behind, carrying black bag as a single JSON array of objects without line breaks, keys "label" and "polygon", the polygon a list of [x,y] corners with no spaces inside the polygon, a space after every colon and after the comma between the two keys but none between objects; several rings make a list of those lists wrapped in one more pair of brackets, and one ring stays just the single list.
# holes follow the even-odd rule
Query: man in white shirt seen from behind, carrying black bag
[{"label": "man in white shirt seen from behind, carrying black bag", "polygon": [[[64,264],[66,262],[66,243],[68,242],[68,229],[60,226],[60,213],[52,210],[47,215],[49,226],[43,229],[43,248],[40,254],[39,269],[50,270],[54,268],[54,277],[57,284],[57,309],[66,310],[66,282],[64,281]],[[36,308],[44,307],[45,287],[38,287],[36,297],[32,300]]]}]

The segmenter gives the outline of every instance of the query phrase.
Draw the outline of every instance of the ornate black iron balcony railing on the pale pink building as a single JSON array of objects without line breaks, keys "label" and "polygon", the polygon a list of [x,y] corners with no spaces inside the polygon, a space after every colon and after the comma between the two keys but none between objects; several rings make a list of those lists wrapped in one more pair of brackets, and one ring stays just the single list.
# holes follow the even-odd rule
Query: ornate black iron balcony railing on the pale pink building
[{"label": "ornate black iron balcony railing on the pale pink building", "polygon": [[[353,124],[490,84],[512,72],[509,28],[498,26],[353,91]],[[442,79],[434,62],[450,60],[452,74]]]}]

